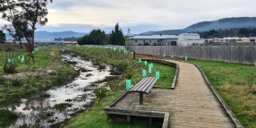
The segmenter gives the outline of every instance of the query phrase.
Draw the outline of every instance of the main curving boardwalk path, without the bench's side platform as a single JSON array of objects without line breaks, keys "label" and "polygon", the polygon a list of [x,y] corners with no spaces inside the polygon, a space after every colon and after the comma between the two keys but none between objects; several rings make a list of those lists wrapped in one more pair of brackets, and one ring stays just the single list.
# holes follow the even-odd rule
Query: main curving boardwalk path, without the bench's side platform
[{"label": "main curving boardwalk path, without the bench's side platform", "polygon": [[235,127],[224,108],[204,81],[194,64],[166,60],[179,64],[180,73],[175,87],[171,127]]}]

